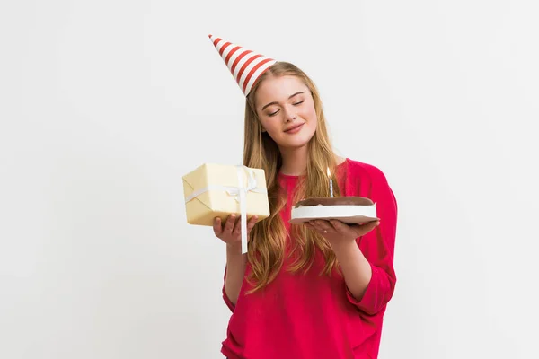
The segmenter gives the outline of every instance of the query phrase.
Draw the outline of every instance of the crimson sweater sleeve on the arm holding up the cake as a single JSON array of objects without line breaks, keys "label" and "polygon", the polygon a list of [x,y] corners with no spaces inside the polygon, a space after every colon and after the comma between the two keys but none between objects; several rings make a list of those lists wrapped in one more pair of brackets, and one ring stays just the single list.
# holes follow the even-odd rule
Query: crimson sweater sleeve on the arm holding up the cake
[{"label": "crimson sweater sleeve on the arm holding up the cake", "polygon": [[357,239],[358,246],[372,268],[367,290],[358,301],[347,288],[349,302],[367,315],[384,311],[393,296],[396,276],[393,269],[393,252],[397,227],[397,201],[384,173],[370,168],[370,198],[376,203],[380,224],[365,236]]}]

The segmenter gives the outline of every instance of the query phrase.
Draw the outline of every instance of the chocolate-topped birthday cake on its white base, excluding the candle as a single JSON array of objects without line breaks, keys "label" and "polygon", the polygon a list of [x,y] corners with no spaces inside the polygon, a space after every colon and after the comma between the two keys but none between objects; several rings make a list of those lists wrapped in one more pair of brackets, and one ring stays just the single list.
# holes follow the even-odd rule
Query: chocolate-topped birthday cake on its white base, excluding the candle
[{"label": "chocolate-topped birthday cake on its white base, excluding the candle", "polygon": [[336,219],[358,224],[377,221],[376,203],[366,197],[312,197],[301,200],[292,208],[290,223],[315,219]]}]

